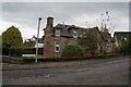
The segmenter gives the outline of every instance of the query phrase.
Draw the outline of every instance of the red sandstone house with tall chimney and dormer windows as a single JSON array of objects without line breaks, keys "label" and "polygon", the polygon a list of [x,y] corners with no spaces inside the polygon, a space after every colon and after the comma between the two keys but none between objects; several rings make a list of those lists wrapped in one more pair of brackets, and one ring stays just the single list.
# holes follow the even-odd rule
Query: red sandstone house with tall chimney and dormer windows
[{"label": "red sandstone house with tall chimney and dormer windows", "polygon": [[[44,38],[44,57],[60,57],[66,45],[76,44],[76,40],[86,32],[94,33],[99,40],[96,53],[102,52],[104,47],[105,53],[114,52],[112,38],[106,32],[99,32],[98,27],[84,28],[75,25],[57,24],[53,26],[53,17],[47,18],[47,25]],[[107,35],[106,35],[107,34]],[[103,44],[102,44],[103,42]],[[103,46],[102,46],[103,45]]]}]

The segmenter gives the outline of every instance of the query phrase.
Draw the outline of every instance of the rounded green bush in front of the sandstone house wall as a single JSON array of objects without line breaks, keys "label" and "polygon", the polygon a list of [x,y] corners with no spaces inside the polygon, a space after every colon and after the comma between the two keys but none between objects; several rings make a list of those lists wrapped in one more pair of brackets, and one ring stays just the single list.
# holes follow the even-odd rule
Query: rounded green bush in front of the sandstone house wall
[{"label": "rounded green bush in front of the sandstone house wall", "polygon": [[62,49],[62,54],[61,57],[83,57],[84,51],[79,45],[67,45]]}]

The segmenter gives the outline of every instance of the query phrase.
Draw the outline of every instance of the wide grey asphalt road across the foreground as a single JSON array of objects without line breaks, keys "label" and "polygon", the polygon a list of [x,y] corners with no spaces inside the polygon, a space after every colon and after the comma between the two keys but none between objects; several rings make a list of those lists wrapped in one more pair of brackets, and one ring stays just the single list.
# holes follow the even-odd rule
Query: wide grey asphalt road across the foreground
[{"label": "wide grey asphalt road across the foreground", "polygon": [[[92,61],[91,61],[92,62]],[[4,70],[3,85],[129,85],[129,57],[95,63]]]}]

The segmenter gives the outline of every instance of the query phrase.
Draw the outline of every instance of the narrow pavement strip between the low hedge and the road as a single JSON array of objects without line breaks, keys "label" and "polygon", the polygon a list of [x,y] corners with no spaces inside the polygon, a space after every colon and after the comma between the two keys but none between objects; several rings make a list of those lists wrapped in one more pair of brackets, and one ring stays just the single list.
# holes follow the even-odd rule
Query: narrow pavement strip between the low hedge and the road
[{"label": "narrow pavement strip between the low hedge and the road", "polygon": [[[131,55],[124,57],[129,59]],[[59,67],[59,66],[70,66],[70,65],[84,65],[84,64],[95,64],[100,62],[116,61],[121,60],[123,57],[108,58],[108,59],[98,59],[98,60],[82,60],[82,61],[66,61],[66,62],[44,62],[44,63],[33,63],[33,64],[9,64],[2,63],[2,71],[9,70],[33,70],[33,69],[49,69],[49,67]]]}]

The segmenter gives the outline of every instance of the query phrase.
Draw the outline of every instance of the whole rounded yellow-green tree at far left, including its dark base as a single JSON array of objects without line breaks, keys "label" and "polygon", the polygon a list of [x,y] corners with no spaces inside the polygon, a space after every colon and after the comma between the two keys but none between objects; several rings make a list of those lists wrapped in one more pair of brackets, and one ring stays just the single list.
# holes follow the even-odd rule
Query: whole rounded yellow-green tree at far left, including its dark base
[{"label": "whole rounded yellow-green tree at far left, including its dark base", "polygon": [[23,38],[21,32],[14,27],[9,27],[2,33],[3,54],[20,55],[23,49]]}]

